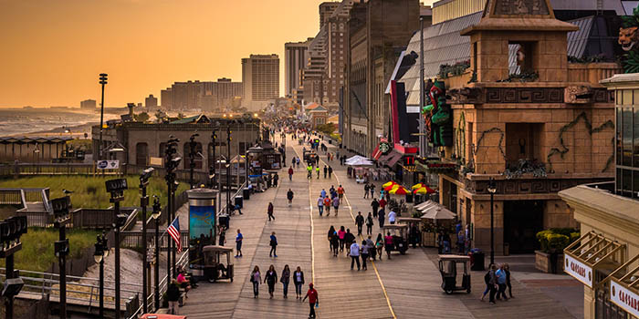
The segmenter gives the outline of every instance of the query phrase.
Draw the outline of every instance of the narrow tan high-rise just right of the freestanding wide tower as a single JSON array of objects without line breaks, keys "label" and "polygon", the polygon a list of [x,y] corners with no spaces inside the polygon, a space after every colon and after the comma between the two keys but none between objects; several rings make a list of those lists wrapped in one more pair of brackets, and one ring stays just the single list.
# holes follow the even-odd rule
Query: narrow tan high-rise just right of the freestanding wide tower
[{"label": "narrow tan high-rise just right of the freestanding wide tower", "polygon": [[309,37],[303,42],[287,42],[284,44],[284,95],[292,96],[293,90],[301,86],[301,70],[307,63]]}]

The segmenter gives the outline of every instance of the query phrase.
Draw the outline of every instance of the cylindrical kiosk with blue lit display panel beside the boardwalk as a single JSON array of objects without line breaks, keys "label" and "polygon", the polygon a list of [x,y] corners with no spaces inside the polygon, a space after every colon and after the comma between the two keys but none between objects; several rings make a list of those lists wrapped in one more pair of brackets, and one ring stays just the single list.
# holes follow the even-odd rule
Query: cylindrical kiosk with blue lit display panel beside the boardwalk
[{"label": "cylindrical kiosk with blue lit display panel beside the boardwalk", "polygon": [[186,190],[189,197],[189,269],[195,277],[204,276],[204,246],[215,243],[215,213],[218,190]]}]

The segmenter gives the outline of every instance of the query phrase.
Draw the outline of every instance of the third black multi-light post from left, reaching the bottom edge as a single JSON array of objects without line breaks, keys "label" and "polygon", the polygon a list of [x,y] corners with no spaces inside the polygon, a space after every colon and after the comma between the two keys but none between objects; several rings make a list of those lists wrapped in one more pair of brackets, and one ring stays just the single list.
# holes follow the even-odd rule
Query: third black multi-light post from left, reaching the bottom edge
[{"label": "third black multi-light post from left, reaching the bottom edge", "polygon": [[120,214],[120,201],[124,200],[124,190],[129,187],[126,179],[107,180],[107,192],[113,203],[113,227],[115,234],[115,319],[120,319],[120,227],[127,220],[126,214]]}]

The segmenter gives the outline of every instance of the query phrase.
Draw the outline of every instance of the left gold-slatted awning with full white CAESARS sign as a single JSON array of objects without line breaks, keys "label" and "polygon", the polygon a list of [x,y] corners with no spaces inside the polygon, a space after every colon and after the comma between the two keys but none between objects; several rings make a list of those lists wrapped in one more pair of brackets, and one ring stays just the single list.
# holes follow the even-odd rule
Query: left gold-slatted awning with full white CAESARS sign
[{"label": "left gold-slatted awning with full white CAESARS sign", "polygon": [[563,271],[592,288],[597,282],[593,271],[613,271],[621,265],[624,244],[613,241],[596,232],[588,232],[563,250]]}]

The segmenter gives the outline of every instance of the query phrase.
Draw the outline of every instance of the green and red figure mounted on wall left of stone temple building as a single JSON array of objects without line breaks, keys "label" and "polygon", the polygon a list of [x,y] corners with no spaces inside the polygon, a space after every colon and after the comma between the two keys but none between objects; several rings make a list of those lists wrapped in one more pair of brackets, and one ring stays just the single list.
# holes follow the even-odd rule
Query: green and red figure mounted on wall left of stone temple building
[{"label": "green and red figure mounted on wall left of stone temple building", "polygon": [[422,116],[426,123],[426,136],[429,143],[437,146],[453,145],[453,112],[446,103],[445,83],[428,80],[426,83],[426,103]]}]

